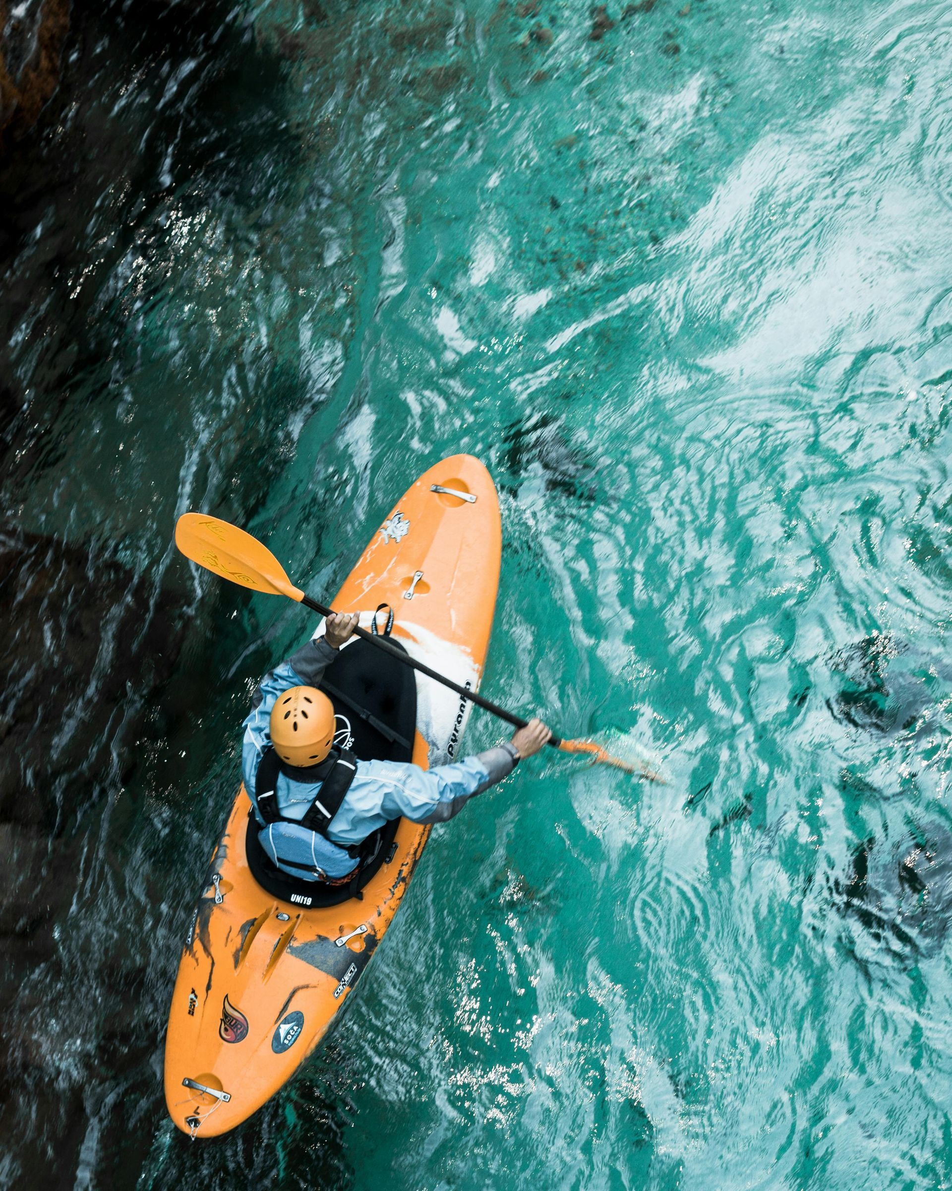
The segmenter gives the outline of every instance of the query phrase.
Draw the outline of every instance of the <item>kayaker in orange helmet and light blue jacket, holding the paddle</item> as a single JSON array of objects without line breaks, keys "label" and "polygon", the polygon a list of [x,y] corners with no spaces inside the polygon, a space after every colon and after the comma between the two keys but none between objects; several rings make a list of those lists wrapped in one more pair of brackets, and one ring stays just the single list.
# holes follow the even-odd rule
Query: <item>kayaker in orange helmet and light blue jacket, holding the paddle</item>
[{"label": "kayaker in orange helmet and light blue jacket, holding the paddle", "polygon": [[356,612],[328,616],[322,637],[264,675],[245,719],[242,772],[258,838],[282,872],[302,880],[344,884],[361,843],[388,819],[451,819],[552,735],[532,719],[511,741],[433,769],[340,755],[333,705],[317,686],[357,621]]}]

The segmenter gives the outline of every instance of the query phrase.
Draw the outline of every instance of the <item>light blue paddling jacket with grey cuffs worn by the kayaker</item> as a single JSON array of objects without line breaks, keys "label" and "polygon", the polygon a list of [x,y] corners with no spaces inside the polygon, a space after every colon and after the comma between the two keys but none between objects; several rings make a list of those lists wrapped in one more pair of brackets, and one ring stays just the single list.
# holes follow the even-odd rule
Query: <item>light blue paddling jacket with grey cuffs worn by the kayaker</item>
[{"label": "light blue paddling jacket with grey cuffs worn by the kayaker", "polygon": [[400,761],[357,761],[353,780],[324,834],[288,822],[303,818],[321,782],[294,780],[282,768],[274,790],[281,818],[268,823],[255,791],[262,757],[271,748],[271,707],[292,686],[318,686],[337,656],[324,637],[308,641],[264,675],[244,724],[242,774],[262,828],[258,838],[282,872],[302,880],[333,880],[352,873],[357,861],[347,849],[389,819],[402,816],[414,823],[443,823],[452,818],[474,794],[512,773],[519,757],[512,744],[502,744],[433,769]]}]

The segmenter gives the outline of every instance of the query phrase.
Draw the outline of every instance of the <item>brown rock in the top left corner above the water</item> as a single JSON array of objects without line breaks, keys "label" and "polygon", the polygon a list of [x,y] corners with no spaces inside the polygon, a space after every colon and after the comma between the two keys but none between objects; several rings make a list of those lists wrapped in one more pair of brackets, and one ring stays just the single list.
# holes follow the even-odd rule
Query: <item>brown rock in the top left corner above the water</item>
[{"label": "brown rock in the top left corner above the water", "polygon": [[0,154],[56,91],[68,29],[68,0],[0,0]]}]

